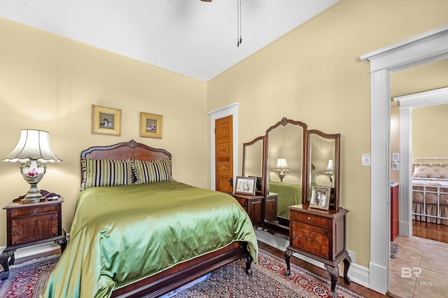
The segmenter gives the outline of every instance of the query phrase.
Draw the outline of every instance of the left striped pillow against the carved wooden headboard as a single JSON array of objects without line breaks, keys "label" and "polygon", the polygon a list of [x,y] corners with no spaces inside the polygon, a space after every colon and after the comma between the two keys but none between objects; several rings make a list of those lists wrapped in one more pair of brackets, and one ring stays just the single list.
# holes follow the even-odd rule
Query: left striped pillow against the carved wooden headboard
[{"label": "left striped pillow against the carved wooden headboard", "polygon": [[83,159],[83,181],[81,190],[97,186],[132,184],[131,159]]}]

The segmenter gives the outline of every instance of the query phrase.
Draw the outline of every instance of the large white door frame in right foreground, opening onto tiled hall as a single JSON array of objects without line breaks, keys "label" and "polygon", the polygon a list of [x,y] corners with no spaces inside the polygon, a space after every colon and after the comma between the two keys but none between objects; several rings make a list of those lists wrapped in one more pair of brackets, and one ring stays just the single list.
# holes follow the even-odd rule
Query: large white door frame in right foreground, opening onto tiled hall
[{"label": "large white door frame in right foreground, opening onto tiled hall", "polygon": [[370,62],[370,262],[369,288],[389,288],[391,239],[390,73],[448,57],[448,25],[360,56]]}]

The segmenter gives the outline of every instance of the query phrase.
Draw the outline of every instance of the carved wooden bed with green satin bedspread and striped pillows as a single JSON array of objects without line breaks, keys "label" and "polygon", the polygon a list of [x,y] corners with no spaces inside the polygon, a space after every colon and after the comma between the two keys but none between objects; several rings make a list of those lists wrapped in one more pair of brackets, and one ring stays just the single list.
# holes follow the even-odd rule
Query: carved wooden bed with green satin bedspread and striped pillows
[{"label": "carved wooden bed with green satin bedspread and striped pillows", "polygon": [[252,274],[258,244],[244,209],[173,180],[171,162],[135,141],[81,152],[69,245],[41,297],[159,297],[238,259]]}]

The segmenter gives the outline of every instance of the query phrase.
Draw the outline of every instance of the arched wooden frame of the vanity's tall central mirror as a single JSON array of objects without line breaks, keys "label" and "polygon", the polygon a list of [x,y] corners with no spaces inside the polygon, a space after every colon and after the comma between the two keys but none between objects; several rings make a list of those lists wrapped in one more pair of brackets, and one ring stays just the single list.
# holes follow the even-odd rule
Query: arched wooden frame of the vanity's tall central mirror
[{"label": "arched wooden frame of the vanity's tall central mirror", "polygon": [[[304,201],[304,198],[307,198],[307,187],[304,187],[304,185],[307,185],[308,178],[306,175],[306,166],[307,166],[307,124],[302,121],[297,120],[290,120],[286,117],[283,117],[279,122],[276,122],[276,124],[272,125],[266,130],[265,135],[265,175],[263,177],[263,180],[265,180],[265,194],[269,194],[269,183],[267,183],[267,177],[269,177],[269,169],[267,169],[267,158],[269,158],[268,150],[269,150],[269,133],[272,132],[272,130],[276,129],[280,125],[283,125],[285,127],[286,125],[297,125],[302,127],[302,202]],[[308,187],[309,188],[309,187]]]}]

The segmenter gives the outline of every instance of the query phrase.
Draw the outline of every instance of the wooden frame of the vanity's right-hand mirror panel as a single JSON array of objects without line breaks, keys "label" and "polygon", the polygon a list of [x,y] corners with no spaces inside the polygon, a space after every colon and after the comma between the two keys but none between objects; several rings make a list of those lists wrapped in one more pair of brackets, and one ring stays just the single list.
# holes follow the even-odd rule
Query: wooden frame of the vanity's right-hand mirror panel
[{"label": "wooden frame of the vanity's right-hand mirror panel", "polygon": [[[309,176],[310,169],[311,169],[311,134],[317,134],[318,136],[321,136],[325,139],[334,139],[335,140],[335,157],[334,157],[334,204],[330,205],[330,209],[335,209],[336,211],[339,211],[339,177],[340,177],[340,166],[341,166],[341,134],[326,134],[325,132],[321,132],[317,129],[310,129],[307,131],[307,167],[306,167],[306,174]],[[309,193],[309,183],[306,184],[305,187],[307,187],[307,193]],[[309,203],[308,196],[306,197],[307,200],[304,202]]]}]

